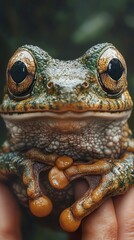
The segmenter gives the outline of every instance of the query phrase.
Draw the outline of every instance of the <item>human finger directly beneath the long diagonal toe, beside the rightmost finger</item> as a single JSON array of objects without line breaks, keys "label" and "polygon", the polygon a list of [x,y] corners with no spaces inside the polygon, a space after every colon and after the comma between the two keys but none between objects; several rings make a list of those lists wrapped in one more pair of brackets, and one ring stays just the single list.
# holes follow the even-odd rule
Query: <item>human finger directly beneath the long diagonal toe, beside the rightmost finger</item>
[{"label": "human finger directly beneath the long diagonal toe, beside the rightmost finger", "polygon": [[111,199],[91,213],[82,225],[82,240],[117,240],[117,220]]}]

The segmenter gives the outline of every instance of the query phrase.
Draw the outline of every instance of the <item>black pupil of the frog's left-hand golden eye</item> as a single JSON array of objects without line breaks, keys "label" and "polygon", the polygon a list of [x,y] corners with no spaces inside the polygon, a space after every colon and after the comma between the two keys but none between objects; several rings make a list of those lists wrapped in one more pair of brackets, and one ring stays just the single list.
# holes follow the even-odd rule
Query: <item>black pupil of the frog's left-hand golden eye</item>
[{"label": "black pupil of the frog's left-hand golden eye", "polygon": [[27,67],[25,63],[16,61],[9,71],[12,79],[17,83],[21,83],[28,75]]}]

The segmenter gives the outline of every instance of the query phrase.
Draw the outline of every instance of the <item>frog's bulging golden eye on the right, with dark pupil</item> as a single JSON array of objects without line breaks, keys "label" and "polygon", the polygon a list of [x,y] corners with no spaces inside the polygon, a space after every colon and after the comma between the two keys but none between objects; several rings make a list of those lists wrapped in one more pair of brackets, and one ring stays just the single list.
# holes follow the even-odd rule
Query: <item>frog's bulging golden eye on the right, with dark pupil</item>
[{"label": "frog's bulging golden eye on the right, with dark pupil", "polygon": [[118,95],[127,87],[127,69],[123,56],[108,48],[98,61],[99,83],[108,95]]}]

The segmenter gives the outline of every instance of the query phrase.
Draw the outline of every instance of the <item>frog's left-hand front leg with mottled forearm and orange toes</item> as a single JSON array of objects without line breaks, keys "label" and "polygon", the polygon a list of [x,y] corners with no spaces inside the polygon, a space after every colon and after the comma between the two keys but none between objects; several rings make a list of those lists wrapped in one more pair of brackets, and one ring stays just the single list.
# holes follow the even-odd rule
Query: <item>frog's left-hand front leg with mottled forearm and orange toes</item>
[{"label": "frog's left-hand front leg with mottled forearm and orange toes", "polygon": [[[31,149],[23,153],[5,152],[0,154],[0,173],[10,178],[17,175],[26,187],[29,208],[38,217],[47,216],[52,210],[51,200],[44,195],[39,185],[39,174],[54,165],[56,155],[44,155],[40,150]],[[44,160],[44,161],[43,161]],[[45,163],[47,162],[47,165]]]}]

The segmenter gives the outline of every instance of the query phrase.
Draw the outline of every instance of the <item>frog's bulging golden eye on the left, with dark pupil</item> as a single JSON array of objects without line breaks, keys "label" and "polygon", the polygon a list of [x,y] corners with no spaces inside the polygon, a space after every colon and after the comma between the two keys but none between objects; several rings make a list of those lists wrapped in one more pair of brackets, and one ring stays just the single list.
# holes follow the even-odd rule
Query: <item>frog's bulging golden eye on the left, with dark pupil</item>
[{"label": "frog's bulging golden eye on the left, with dark pupil", "polygon": [[27,97],[35,82],[36,64],[33,56],[25,49],[19,49],[8,62],[8,91],[14,97]]}]

